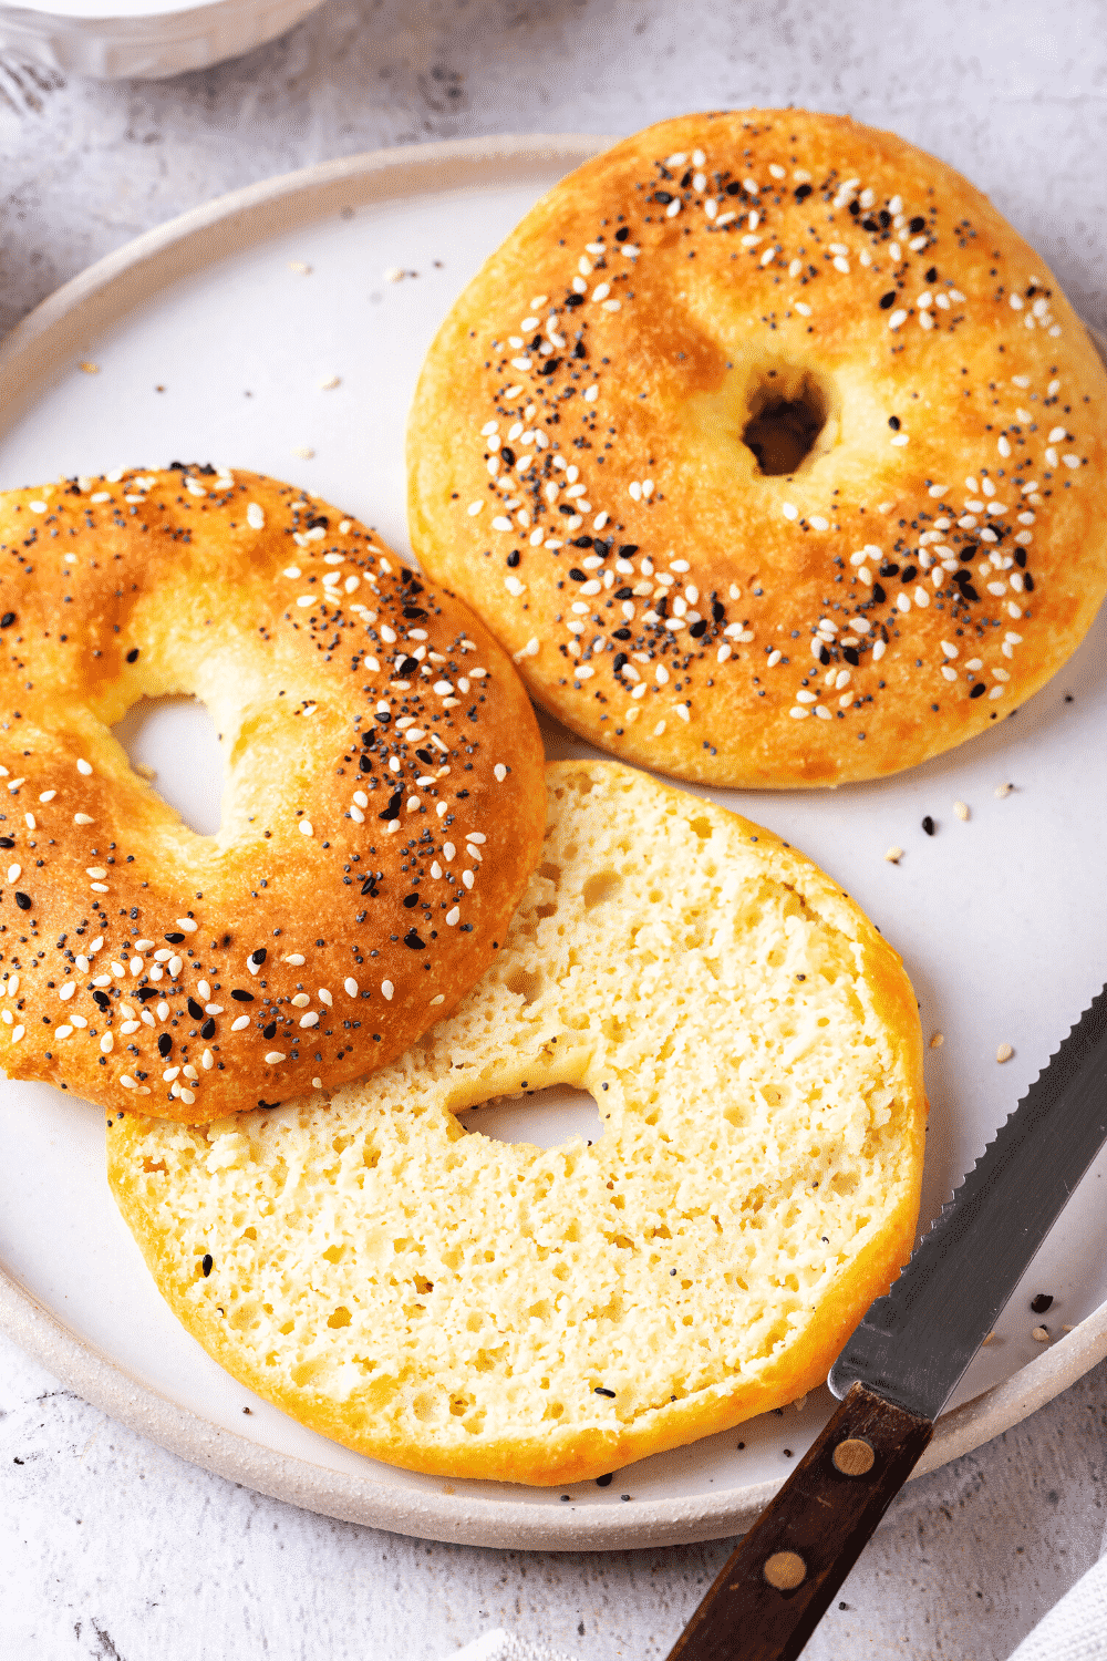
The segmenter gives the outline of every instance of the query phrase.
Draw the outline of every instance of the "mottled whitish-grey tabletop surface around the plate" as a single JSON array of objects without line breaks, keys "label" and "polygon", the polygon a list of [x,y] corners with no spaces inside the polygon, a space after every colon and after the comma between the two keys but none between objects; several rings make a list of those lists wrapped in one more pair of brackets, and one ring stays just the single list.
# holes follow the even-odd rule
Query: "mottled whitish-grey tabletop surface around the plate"
[{"label": "mottled whitish-grey tabletop surface around the plate", "polygon": [[[954,163],[1107,327],[1097,0],[327,0],[176,81],[66,85],[0,56],[0,332],[139,231],[310,161],[757,103],[846,111]],[[812,1661],[1004,1661],[1095,1558],[1105,1458],[1107,1365],[914,1483]],[[644,1661],[727,1550],[523,1555],[334,1523],[183,1465],[0,1340],[0,1661],[435,1661],[498,1624]]]}]

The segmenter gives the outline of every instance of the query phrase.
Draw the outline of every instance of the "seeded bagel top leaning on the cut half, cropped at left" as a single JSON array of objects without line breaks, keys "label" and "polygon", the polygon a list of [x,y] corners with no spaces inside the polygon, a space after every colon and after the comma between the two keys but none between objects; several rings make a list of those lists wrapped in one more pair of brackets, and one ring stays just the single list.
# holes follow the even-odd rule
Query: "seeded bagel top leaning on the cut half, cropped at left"
[{"label": "seeded bagel top leaning on the cut half, cropped at left", "polygon": [[[375,533],[254,473],[0,497],[0,1065],[204,1121],[383,1066],[488,967],[543,830],[523,686]],[[194,693],[196,835],[111,726]]]}]

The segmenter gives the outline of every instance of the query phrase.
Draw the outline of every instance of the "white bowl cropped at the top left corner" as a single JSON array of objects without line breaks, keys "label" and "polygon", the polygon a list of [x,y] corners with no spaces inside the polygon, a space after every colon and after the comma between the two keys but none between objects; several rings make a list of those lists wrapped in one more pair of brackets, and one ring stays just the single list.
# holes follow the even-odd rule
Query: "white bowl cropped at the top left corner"
[{"label": "white bowl cropped at the top left corner", "polygon": [[[0,51],[96,80],[164,80],[276,40],[322,0],[50,0],[0,3]],[[111,15],[98,15],[110,5]]]}]

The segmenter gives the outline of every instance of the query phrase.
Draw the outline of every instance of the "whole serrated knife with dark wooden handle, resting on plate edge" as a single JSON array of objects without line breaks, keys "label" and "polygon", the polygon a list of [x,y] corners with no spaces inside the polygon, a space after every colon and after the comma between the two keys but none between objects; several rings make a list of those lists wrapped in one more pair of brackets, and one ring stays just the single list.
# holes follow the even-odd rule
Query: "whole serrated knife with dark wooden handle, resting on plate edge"
[{"label": "whole serrated knife with dark wooden handle, resting on plate edge", "polygon": [[744,1536],[669,1661],[792,1661],[1107,1141],[1107,987],[830,1370],[841,1407]]}]

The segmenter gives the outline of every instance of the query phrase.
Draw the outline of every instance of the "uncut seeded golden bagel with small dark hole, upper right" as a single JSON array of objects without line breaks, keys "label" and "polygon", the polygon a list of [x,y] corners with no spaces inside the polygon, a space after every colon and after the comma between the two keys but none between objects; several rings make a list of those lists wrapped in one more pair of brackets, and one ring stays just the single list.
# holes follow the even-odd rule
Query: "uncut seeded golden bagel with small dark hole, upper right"
[{"label": "uncut seeded golden bagel with small dark hole, upper right", "polygon": [[420,563],[576,733],[729,786],[866,779],[1012,713],[1107,590],[1107,377],[958,173],[695,115],[528,213],[432,345]]}]

